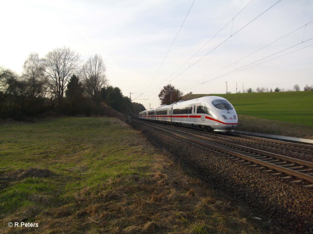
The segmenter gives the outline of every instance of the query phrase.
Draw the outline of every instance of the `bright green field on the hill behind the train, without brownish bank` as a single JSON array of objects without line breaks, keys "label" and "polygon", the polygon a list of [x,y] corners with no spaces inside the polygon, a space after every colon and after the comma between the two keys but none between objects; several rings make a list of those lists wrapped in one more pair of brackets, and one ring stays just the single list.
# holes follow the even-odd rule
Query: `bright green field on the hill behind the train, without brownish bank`
[{"label": "bright green field on the hill behind the train, without brownish bank", "polygon": [[[211,94],[229,100],[238,115],[313,126],[313,92]],[[194,99],[206,94],[186,95]]]}]

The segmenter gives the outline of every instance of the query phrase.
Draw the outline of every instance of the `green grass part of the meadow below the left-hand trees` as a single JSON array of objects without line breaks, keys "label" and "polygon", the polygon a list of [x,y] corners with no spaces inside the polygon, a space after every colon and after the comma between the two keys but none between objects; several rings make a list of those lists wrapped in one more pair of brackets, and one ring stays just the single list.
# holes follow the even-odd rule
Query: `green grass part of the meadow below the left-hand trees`
[{"label": "green grass part of the meadow below the left-hand trees", "polygon": [[[16,174],[23,183],[1,190],[0,213],[35,204],[40,209],[48,208],[56,201],[73,199],[75,191],[87,186],[98,186],[117,175],[138,173],[136,168],[149,164],[151,152],[142,151],[142,157],[134,160],[143,146],[129,140],[134,133],[125,125],[109,118],[57,118],[2,126],[0,172],[9,178],[10,173],[13,177]],[[23,172],[30,168],[47,168],[58,179],[24,177]],[[7,181],[1,182],[3,185]],[[47,203],[29,200],[34,192]]]}]

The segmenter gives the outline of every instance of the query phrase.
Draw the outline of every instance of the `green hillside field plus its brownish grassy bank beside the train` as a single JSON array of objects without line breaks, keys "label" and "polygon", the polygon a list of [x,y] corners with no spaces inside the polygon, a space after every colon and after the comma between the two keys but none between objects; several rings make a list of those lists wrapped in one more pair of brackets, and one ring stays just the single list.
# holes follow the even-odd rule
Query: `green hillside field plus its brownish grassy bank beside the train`
[{"label": "green hillside field plus its brownish grassy bank beside the train", "polygon": [[[313,92],[212,94],[229,100],[239,115],[238,130],[313,138]],[[207,96],[185,95],[185,100]],[[288,124],[287,124],[288,123]]]}]

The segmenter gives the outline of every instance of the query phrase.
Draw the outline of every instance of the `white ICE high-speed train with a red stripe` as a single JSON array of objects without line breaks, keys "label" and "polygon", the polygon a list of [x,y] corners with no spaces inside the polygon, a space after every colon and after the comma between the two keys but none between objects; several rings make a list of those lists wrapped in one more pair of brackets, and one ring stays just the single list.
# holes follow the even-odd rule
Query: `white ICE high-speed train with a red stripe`
[{"label": "white ICE high-speed train with a red stripe", "polygon": [[161,105],[155,109],[141,111],[138,119],[198,127],[209,132],[233,132],[238,124],[238,116],[233,106],[228,100],[218,96]]}]

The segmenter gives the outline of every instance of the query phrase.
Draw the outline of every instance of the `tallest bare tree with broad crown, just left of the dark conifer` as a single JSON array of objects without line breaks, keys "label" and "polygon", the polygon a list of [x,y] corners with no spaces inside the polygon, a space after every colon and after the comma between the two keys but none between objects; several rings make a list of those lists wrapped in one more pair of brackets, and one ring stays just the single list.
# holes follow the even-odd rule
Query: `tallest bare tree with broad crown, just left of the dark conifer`
[{"label": "tallest bare tree with broad crown, just left of the dark conifer", "polygon": [[74,74],[80,63],[80,54],[69,47],[56,48],[44,59],[46,81],[50,91],[58,99],[59,106],[69,78]]}]

